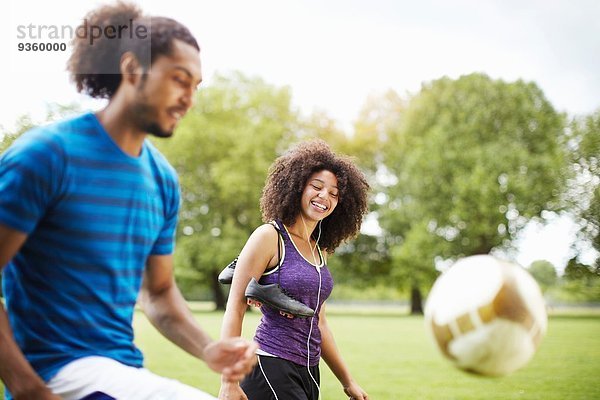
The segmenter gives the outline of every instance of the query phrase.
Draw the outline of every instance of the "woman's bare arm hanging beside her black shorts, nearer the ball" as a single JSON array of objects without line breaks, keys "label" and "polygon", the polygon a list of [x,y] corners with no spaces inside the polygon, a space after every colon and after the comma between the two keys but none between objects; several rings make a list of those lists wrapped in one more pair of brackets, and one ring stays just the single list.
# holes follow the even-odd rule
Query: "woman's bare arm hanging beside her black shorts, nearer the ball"
[{"label": "woman's bare arm hanging beside her black shorts, nearer the ball", "polygon": [[321,331],[321,357],[342,384],[344,392],[354,400],[368,400],[367,392],[354,382],[350,370],[335,344],[333,332],[329,328],[325,316],[325,303],[319,312],[319,330]]}]

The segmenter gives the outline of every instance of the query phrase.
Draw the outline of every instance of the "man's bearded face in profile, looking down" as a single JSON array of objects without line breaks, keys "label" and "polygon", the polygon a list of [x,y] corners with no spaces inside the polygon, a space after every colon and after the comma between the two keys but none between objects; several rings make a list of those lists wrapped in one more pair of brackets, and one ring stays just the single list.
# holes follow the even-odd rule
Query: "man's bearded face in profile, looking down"
[{"label": "man's bearded face in profile, looking down", "polygon": [[173,54],[159,56],[140,80],[131,109],[132,120],[144,132],[170,137],[192,106],[201,81],[198,50],[174,40]]}]

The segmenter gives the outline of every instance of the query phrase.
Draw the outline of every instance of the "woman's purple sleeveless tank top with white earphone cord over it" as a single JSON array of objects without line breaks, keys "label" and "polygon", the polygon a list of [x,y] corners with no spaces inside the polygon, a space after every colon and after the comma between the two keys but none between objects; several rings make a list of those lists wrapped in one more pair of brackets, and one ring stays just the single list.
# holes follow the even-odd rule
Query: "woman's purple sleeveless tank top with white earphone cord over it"
[{"label": "woman's purple sleeveless tank top with white earphone cord over it", "polygon": [[[281,228],[285,249],[281,254],[283,262],[278,270],[263,275],[260,283],[277,283],[279,279],[281,286],[290,296],[313,310],[316,309],[316,313],[314,318],[289,319],[280,315],[279,311],[263,306],[261,307],[263,316],[258,328],[256,328],[254,339],[258,342],[260,349],[269,354],[299,365],[315,366],[321,358],[319,311],[323,302],[331,294],[333,278],[322,257],[317,260],[321,263],[321,266],[315,267],[296,249],[283,224],[279,221],[277,221],[277,224]],[[279,278],[278,274],[281,274]],[[317,298],[319,299],[318,303]],[[308,357],[309,332],[310,359]]]}]

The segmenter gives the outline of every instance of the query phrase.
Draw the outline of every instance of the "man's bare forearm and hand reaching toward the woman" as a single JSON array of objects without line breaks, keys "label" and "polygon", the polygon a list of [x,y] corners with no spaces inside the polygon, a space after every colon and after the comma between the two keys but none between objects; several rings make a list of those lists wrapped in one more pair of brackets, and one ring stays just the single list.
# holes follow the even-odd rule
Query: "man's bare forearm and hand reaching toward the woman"
[{"label": "man's bare forearm and hand reaching toward the woman", "polygon": [[241,338],[213,341],[196,322],[173,276],[173,256],[150,256],[140,305],[167,339],[204,360],[227,379],[240,380],[256,362],[256,344]]}]

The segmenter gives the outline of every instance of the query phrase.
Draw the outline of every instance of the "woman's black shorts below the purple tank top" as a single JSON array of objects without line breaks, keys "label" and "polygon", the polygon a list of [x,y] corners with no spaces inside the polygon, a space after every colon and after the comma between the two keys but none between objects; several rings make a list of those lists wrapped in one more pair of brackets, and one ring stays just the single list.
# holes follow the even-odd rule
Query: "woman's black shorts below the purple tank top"
[{"label": "woman's black shorts below the purple tank top", "polygon": [[319,388],[310,377],[309,370],[320,385],[318,365],[307,369],[305,365],[282,358],[258,356],[258,364],[240,386],[249,400],[318,400]]}]

